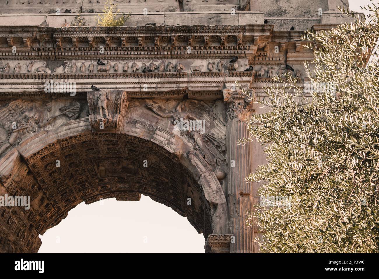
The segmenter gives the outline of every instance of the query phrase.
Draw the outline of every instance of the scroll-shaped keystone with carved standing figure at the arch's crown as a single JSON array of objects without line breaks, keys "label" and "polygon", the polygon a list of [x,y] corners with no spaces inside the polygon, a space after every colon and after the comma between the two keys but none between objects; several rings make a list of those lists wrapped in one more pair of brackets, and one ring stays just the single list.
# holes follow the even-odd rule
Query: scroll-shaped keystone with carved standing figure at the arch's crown
[{"label": "scroll-shaped keystone with carved standing figure at the arch's crown", "polygon": [[[100,129],[101,123],[103,123],[103,129],[121,128],[128,107],[128,98],[125,91],[88,91],[87,101],[89,109],[89,124],[92,129]],[[100,107],[102,108],[101,115]]]}]

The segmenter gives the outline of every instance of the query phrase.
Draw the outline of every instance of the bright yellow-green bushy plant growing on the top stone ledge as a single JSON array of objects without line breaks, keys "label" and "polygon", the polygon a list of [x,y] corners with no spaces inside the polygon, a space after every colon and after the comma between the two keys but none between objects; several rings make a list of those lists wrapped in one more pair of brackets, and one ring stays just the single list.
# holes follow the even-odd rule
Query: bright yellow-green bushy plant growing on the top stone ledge
[{"label": "bright yellow-green bushy plant growing on the top stone ledge", "polygon": [[120,10],[117,9],[117,4],[113,3],[114,0],[107,0],[103,15],[97,15],[97,26],[123,26],[125,21],[129,18],[130,13],[119,15]]}]

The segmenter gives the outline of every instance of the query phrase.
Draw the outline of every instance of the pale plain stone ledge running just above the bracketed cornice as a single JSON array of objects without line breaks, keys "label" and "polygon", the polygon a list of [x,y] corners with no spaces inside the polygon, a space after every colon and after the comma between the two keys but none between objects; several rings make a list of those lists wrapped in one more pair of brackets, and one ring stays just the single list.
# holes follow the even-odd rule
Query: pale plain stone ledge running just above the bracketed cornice
[{"label": "pale plain stone ledge running just above the bracketed cornice", "polygon": [[[362,13],[357,13],[361,14]],[[55,14],[1,14],[1,26],[39,26],[46,21],[49,27],[62,27],[64,19],[71,22],[76,14],[61,13]],[[81,14],[89,26],[96,26],[97,14]],[[173,26],[173,25],[246,25],[264,24],[265,19],[268,24],[274,24],[274,31],[289,31],[294,27],[296,31],[307,30],[314,24],[341,24],[351,22],[351,18],[338,12],[324,12],[321,17],[264,17],[258,11],[236,11],[235,15],[230,12],[167,12],[132,13],[125,26]]]}]

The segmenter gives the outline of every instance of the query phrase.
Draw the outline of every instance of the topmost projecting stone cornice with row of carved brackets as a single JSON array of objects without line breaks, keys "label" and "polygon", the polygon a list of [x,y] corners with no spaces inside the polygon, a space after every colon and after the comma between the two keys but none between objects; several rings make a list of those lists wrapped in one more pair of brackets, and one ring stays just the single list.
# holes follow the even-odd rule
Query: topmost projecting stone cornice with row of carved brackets
[{"label": "topmost projecting stone cornice with row of carved brackets", "polygon": [[[270,36],[273,25],[181,25],[137,27],[11,27],[0,28],[0,35],[7,38],[8,47],[17,46],[35,51],[91,51],[92,48],[130,47],[122,50],[143,50],[141,47],[163,47],[146,50],[179,50],[175,47],[199,47],[229,49],[258,44],[262,36]],[[15,39],[20,38],[20,39]],[[263,39],[263,40],[265,40]],[[22,42],[22,44],[20,44]],[[1,47],[1,46],[0,46]],[[4,47],[4,46],[3,46]],[[164,49],[166,47],[166,49]],[[168,47],[174,47],[168,49]],[[111,49],[111,50],[121,50]]]}]

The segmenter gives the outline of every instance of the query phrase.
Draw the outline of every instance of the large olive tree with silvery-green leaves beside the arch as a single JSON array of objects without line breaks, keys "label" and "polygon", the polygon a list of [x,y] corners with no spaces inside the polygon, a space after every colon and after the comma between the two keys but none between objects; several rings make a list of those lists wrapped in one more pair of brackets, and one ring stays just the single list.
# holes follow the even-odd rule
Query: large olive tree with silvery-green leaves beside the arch
[{"label": "large olive tree with silvery-green leaves beside the arch", "polygon": [[355,24],[305,33],[309,86],[276,76],[253,99],[269,110],[240,144],[257,140],[268,161],[246,178],[261,182],[246,224],[263,232],[262,252],[378,252],[379,8],[364,9],[366,20],[342,10]]}]

